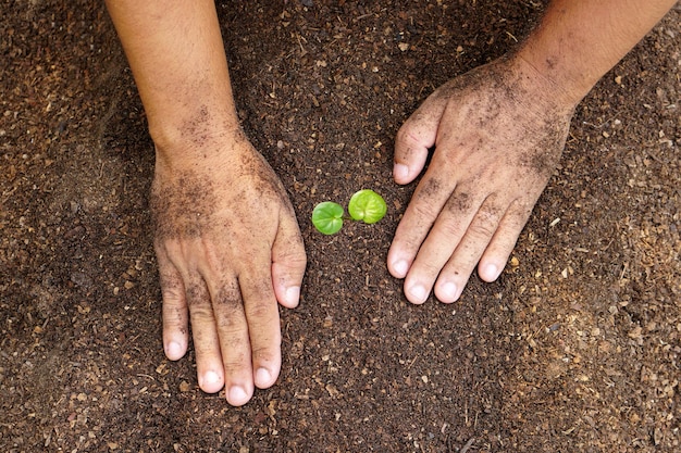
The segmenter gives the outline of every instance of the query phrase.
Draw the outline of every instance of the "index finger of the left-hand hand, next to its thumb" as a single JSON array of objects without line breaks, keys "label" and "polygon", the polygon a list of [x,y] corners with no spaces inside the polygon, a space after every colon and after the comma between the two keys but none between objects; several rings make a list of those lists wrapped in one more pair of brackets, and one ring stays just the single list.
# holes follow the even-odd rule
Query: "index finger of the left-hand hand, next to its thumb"
[{"label": "index finger of the left-hand hand, next to its thumb", "polygon": [[253,382],[256,387],[271,387],[282,366],[282,334],[278,307],[272,280],[264,278],[269,268],[264,265],[239,275],[244,309],[248,322],[251,347]]}]

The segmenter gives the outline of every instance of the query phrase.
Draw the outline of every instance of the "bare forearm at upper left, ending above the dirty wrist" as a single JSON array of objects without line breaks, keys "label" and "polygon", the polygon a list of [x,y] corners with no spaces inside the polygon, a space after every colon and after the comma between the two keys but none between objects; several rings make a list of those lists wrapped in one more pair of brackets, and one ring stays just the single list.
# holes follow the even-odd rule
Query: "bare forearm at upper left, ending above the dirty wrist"
[{"label": "bare forearm at upper left, ending above the dirty wrist", "polygon": [[107,0],[107,7],[157,148],[238,127],[213,0]]}]

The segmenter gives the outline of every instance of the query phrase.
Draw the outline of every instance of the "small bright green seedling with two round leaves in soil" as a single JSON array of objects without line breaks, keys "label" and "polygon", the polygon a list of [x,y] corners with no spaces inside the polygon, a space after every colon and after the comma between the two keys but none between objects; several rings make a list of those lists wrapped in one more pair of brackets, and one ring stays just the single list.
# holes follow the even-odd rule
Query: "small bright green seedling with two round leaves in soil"
[{"label": "small bright green seedling with two round leaves in soil", "polygon": [[335,235],[343,228],[343,221],[361,221],[366,224],[375,224],[385,216],[387,204],[383,197],[371,189],[356,192],[348,203],[349,217],[338,203],[324,201],[314,206],[312,224],[324,235]]}]

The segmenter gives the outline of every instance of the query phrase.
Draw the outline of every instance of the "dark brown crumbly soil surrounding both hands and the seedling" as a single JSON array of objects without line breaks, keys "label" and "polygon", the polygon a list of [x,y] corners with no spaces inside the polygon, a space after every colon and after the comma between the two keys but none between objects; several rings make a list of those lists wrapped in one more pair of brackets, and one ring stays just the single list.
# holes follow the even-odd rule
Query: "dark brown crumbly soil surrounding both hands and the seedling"
[{"label": "dark brown crumbly soil surrounding both hands and the seedling", "polygon": [[[0,4],[1,451],[681,450],[680,7],[578,108],[500,279],[413,306],[385,266],[416,187],[394,137],[545,3],[219,2],[309,259],[280,380],[234,408],[163,355],[152,143],[102,2]],[[313,229],[362,188],[382,222]]]}]

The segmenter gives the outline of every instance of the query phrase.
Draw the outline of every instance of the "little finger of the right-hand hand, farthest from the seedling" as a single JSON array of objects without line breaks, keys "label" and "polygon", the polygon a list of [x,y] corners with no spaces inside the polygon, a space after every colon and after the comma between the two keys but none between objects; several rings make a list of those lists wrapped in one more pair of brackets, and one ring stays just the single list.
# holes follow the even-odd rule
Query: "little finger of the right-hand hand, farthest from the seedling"
[{"label": "little finger of the right-hand hand, farthest from the seedling", "polygon": [[480,264],[478,275],[485,281],[496,280],[510,256],[518,237],[528,223],[534,203],[516,200],[511,203],[507,213],[502,218],[499,226],[485,249]]}]

